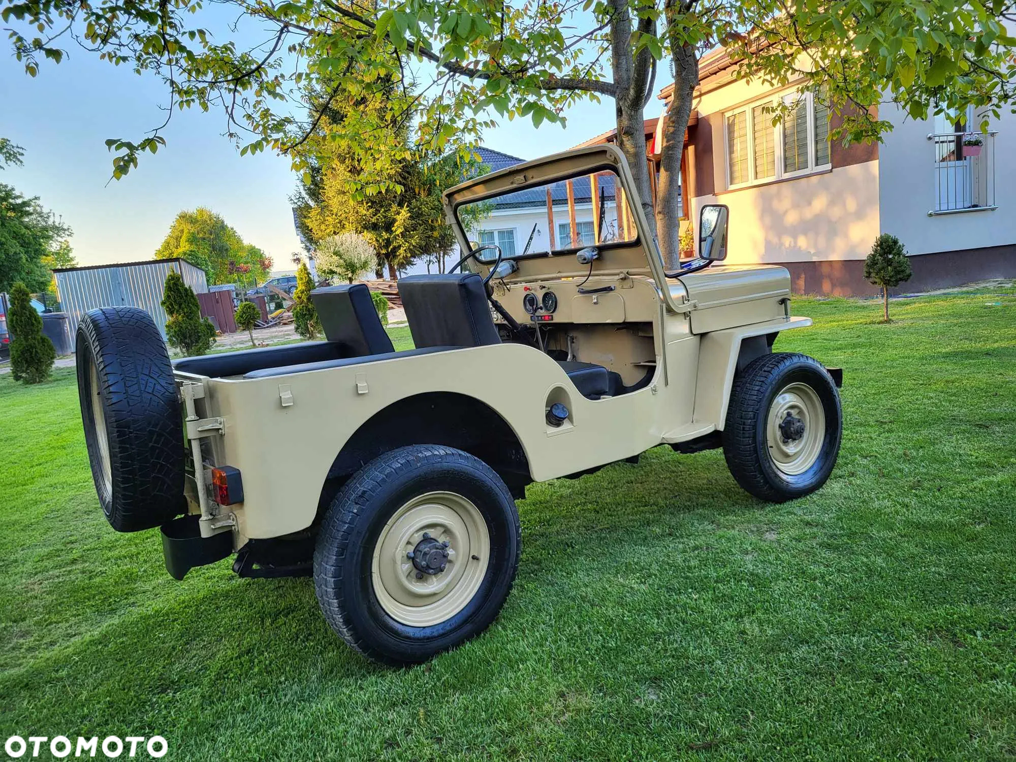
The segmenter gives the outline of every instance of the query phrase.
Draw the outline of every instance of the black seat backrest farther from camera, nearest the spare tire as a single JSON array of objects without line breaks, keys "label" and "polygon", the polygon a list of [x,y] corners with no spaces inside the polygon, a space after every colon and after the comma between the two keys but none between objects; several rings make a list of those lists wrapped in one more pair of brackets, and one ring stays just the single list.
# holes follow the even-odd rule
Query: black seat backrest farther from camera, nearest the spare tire
[{"label": "black seat backrest farther from camera, nearest the spare tire", "polygon": [[315,289],[311,301],[325,338],[347,346],[350,357],[395,351],[374,309],[371,293],[363,283]]}]

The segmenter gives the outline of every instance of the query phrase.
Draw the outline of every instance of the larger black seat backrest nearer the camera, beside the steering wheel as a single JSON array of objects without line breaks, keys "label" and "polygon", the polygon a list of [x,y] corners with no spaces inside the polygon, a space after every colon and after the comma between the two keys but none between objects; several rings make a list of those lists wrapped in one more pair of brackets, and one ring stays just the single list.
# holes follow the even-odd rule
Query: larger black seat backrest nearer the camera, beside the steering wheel
[{"label": "larger black seat backrest nearer the camera, beside the steering wheel", "polygon": [[501,343],[483,278],[474,272],[406,275],[398,279],[398,296],[418,347]]}]

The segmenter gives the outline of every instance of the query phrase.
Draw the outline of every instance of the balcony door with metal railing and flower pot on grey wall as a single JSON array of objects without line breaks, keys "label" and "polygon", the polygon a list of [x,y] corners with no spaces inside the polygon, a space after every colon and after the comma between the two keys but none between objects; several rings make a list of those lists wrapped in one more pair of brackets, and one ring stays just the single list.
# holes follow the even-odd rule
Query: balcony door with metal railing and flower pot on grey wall
[{"label": "balcony door with metal railing and flower pot on grey wall", "polygon": [[941,132],[928,136],[934,146],[935,163],[935,196],[929,215],[996,208],[997,134]]}]

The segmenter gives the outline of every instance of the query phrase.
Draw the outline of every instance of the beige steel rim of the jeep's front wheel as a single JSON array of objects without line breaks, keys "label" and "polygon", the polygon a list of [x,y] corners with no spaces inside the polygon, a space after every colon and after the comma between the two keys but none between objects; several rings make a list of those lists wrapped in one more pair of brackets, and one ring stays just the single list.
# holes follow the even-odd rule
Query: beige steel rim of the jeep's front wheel
[{"label": "beige steel rim of the jeep's front wheel", "polygon": [[[800,438],[785,436],[787,415],[791,424],[797,420],[804,425]],[[766,443],[773,465],[788,477],[804,473],[818,460],[824,440],[825,408],[815,389],[802,383],[780,389],[766,419]]]}]

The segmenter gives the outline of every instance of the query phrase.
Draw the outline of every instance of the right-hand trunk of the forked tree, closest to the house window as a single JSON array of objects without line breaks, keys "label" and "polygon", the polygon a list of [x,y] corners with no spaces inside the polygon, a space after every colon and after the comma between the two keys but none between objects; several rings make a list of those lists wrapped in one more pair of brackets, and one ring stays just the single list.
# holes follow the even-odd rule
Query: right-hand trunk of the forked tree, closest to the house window
[{"label": "right-hand trunk of the forked tree, closest to the house window", "polygon": [[[671,29],[671,47],[674,58],[674,92],[666,108],[663,127],[663,150],[656,186],[656,231],[659,250],[668,269],[676,269],[681,261],[681,156],[685,149],[685,131],[692,114],[692,99],[699,83],[698,56],[691,46],[678,45],[674,29],[684,12],[680,3],[668,0],[663,7],[666,27]],[[685,193],[688,192],[687,178]]]}]

